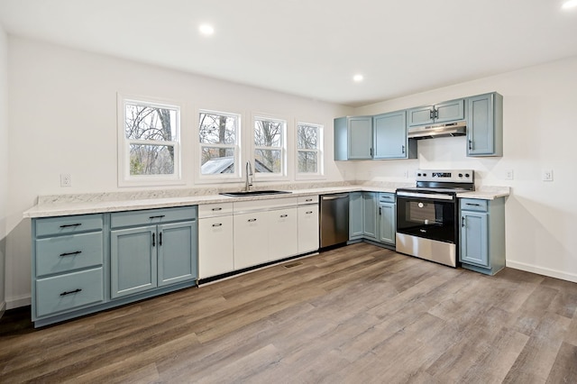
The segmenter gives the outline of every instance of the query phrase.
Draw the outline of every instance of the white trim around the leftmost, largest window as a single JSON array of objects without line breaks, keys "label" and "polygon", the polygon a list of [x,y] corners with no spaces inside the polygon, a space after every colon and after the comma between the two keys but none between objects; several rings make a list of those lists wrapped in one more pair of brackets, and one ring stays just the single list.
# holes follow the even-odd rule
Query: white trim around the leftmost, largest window
[{"label": "white trim around the leftmost, largest window", "polygon": [[[129,140],[124,133],[126,104],[138,103],[153,107],[176,109],[177,114],[177,140],[176,142],[156,142],[146,140]],[[116,132],[117,132],[117,177],[118,187],[161,187],[183,185],[181,175],[181,153],[180,153],[180,122],[182,121],[182,105],[171,100],[160,100],[147,96],[134,96],[116,94]],[[151,145],[171,145],[174,148],[174,173],[171,175],[139,175],[130,174],[130,144],[144,143]]]}]

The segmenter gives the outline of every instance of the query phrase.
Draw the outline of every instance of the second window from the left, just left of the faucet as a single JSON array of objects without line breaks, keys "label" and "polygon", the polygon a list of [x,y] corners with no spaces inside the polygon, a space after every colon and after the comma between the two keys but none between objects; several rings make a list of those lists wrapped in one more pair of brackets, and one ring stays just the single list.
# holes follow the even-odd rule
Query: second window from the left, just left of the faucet
[{"label": "second window from the left, just left of the faucet", "polygon": [[240,177],[240,115],[200,111],[198,117],[201,178]]}]

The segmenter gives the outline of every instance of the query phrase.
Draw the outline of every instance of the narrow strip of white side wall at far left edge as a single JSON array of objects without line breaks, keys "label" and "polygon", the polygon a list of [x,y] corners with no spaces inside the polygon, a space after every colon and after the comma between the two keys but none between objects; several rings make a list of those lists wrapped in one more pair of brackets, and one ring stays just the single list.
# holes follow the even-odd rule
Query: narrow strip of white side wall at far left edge
[{"label": "narrow strip of white side wall at far left edge", "polygon": [[5,310],[8,195],[8,36],[0,24],[0,316]]}]

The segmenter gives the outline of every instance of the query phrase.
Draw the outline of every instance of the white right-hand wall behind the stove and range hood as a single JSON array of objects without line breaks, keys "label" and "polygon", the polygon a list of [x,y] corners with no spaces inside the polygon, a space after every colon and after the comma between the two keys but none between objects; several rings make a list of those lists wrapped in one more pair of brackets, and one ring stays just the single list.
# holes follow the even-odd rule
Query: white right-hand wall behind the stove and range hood
[{"label": "white right-hand wall behind the stove and range hood", "polygon": [[[484,185],[509,186],[507,265],[577,281],[577,58],[482,78],[453,87],[357,108],[379,114],[461,96],[497,91],[503,96],[504,155],[467,158],[465,138],[422,141],[418,160],[362,161],[357,178],[407,180],[417,168],[475,169]],[[505,180],[506,169],[514,180]],[[542,181],[544,169],[554,181]]]}]

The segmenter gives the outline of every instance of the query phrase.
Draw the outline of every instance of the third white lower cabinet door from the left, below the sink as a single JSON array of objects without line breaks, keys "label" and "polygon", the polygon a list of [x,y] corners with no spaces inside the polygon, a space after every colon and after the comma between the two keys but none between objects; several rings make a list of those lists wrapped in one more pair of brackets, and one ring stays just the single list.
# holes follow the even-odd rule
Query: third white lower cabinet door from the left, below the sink
[{"label": "third white lower cabinet door from the left, below the sink", "polygon": [[298,252],[297,208],[269,211],[269,261]]}]

